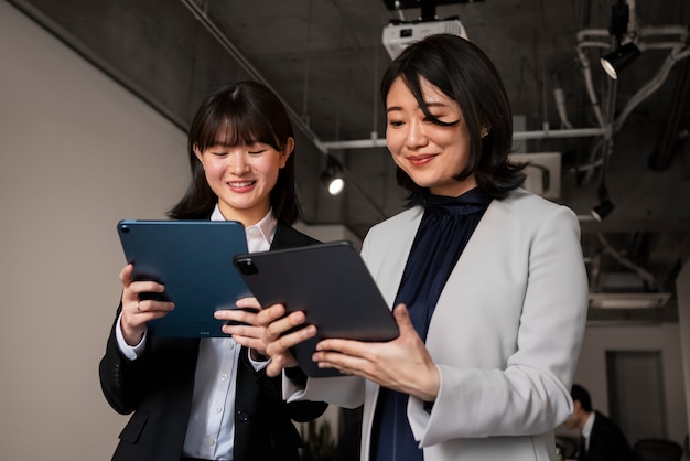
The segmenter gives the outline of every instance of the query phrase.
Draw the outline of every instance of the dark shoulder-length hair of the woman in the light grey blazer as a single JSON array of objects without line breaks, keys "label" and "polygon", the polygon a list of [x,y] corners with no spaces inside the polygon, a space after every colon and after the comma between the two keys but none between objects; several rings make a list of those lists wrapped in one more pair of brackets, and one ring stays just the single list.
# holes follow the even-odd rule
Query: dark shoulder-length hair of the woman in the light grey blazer
[{"label": "dark shoulder-length hair of the woman in the light grey blazer", "polygon": [[[524,164],[508,160],[513,146],[513,114],[503,81],[486,54],[456,35],[435,34],[416,42],[390,63],[381,81],[384,105],[390,86],[401,77],[429,120],[435,118],[424,103],[420,78],[454,99],[464,116],[470,133],[467,165],[455,179],[474,173],[477,185],[494,199],[504,199],[525,181]],[[483,128],[488,129],[484,138]],[[428,194],[402,169],[397,170],[398,184],[409,191],[409,205],[423,203]]]}]

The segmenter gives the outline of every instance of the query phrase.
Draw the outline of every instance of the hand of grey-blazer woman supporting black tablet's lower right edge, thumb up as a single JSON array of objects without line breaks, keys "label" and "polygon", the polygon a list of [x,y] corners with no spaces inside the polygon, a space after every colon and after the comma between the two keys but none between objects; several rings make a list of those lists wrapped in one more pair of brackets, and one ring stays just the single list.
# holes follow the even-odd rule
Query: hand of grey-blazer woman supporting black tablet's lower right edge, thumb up
[{"label": "hand of grey-blazer woman supporting black tablet's lower right edge, thumb up", "polygon": [[323,340],[313,361],[321,367],[337,368],[382,387],[434,401],[440,387],[439,371],[414,330],[403,304],[393,309],[400,335],[389,342]]}]

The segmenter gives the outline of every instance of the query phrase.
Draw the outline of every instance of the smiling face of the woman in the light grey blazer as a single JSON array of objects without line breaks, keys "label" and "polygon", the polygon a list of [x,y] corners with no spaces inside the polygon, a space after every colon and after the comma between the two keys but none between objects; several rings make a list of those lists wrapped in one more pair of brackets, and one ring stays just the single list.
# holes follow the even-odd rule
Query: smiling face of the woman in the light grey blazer
[{"label": "smiling face of the woman in the light grey blazer", "polygon": [[427,117],[401,77],[386,96],[388,149],[414,183],[432,194],[459,196],[476,186],[474,175],[454,179],[467,164],[470,136],[457,103],[420,77],[423,100],[439,125]]}]

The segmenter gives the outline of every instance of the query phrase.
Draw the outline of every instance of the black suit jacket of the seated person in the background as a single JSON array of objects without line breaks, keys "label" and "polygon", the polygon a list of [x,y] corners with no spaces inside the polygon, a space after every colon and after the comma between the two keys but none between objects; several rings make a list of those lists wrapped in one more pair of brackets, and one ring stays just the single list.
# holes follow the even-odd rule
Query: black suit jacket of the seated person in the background
[{"label": "black suit jacket of the seated person in the background", "polygon": [[625,435],[615,422],[594,411],[590,448],[580,453],[579,461],[634,461],[637,459]]}]

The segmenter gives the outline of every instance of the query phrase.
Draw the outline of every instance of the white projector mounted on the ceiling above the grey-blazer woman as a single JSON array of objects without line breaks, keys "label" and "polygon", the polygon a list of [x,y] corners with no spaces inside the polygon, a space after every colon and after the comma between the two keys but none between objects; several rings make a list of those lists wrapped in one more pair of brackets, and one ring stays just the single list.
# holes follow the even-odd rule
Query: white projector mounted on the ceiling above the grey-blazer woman
[{"label": "white projector mounted on the ceiling above the grey-blazer woman", "polygon": [[467,32],[459,19],[390,23],[384,28],[382,42],[391,60],[410,43],[438,33],[450,33],[467,39]]}]

